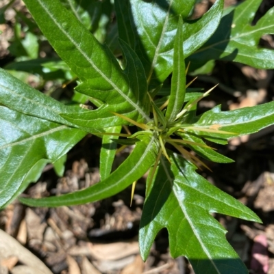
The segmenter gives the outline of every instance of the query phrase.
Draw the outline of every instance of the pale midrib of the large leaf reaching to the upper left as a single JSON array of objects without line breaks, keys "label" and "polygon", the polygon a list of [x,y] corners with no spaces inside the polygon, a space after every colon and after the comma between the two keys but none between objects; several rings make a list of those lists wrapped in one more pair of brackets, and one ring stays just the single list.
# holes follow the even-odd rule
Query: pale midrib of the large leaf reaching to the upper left
[{"label": "pale midrib of the large leaf reaching to the upper left", "polygon": [[49,17],[51,18],[51,20],[53,20],[53,23],[55,23],[55,25],[58,26],[58,28],[71,41],[71,43],[75,46],[75,48],[79,51],[79,53],[81,53],[82,56],[90,63],[90,65],[92,66],[92,68],[94,68],[101,75],[101,77],[103,79],[105,79],[105,81],[107,81],[108,83],[110,83],[110,85],[112,85],[112,87],[114,87],[114,90],[116,90],[123,98],[125,98],[125,100],[127,100],[127,102],[130,105],[132,105],[132,107],[134,107],[134,109],[136,109],[136,111],[138,111],[138,113],[140,113],[140,115],[142,115],[142,118],[145,118],[145,120],[149,121],[150,120],[149,116],[140,108],[140,106],[137,105],[134,101],[132,101],[131,98],[129,98],[128,96],[126,96],[123,93],[123,91],[95,65],[95,63],[92,61],[92,59],[90,59],[90,57],[88,57],[88,55],[86,55],[86,53],[84,51],[82,51],[81,47],[77,44],[77,42],[75,42],[75,40],[73,40],[73,38],[69,35],[69,33],[67,33],[66,31],[64,31],[64,29],[58,23],[58,21],[55,20],[55,18],[51,15],[51,13],[49,12],[49,10],[47,10],[47,7],[44,5],[44,3],[42,3],[42,1],[40,1],[40,0],[37,0],[37,1],[40,3],[41,7],[45,10],[45,12],[49,15]]}]

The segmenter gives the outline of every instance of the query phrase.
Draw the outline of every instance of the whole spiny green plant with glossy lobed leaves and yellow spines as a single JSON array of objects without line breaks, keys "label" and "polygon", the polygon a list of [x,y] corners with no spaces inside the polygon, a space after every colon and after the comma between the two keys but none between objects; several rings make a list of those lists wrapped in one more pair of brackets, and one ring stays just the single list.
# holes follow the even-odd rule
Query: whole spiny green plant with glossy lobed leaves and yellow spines
[{"label": "whole spiny green plant with glossy lobed leaves and yellow spines", "polygon": [[[196,115],[197,103],[214,87],[205,93],[193,91],[186,73],[216,59],[274,68],[274,51],[258,46],[264,34],[274,33],[274,9],[254,25],[262,0],[246,0],[224,13],[223,0],[216,0],[195,20],[189,19],[195,0],[24,2],[64,61],[62,66],[77,79],[76,94],[97,108],[64,105],[0,69],[1,207],[37,180],[47,163],[58,163],[92,133],[102,138],[101,182],[58,197],[20,197],[21,202],[49,207],[94,202],[135,185],[149,170],[139,232],[143,260],[155,236],[166,228],[171,255],[186,256],[195,273],[247,273],[211,213],[260,219],[196,169],[208,168],[199,156],[231,163],[206,141],[226,144],[229,138],[274,124],[274,104],[234,111],[216,106]],[[92,22],[98,29],[98,18],[110,18],[112,10],[116,36],[110,31],[101,39]],[[87,21],[85,12],[94,20]],[[132,153],[111,172],[117,146],[121,150],[132,144]]]}]

